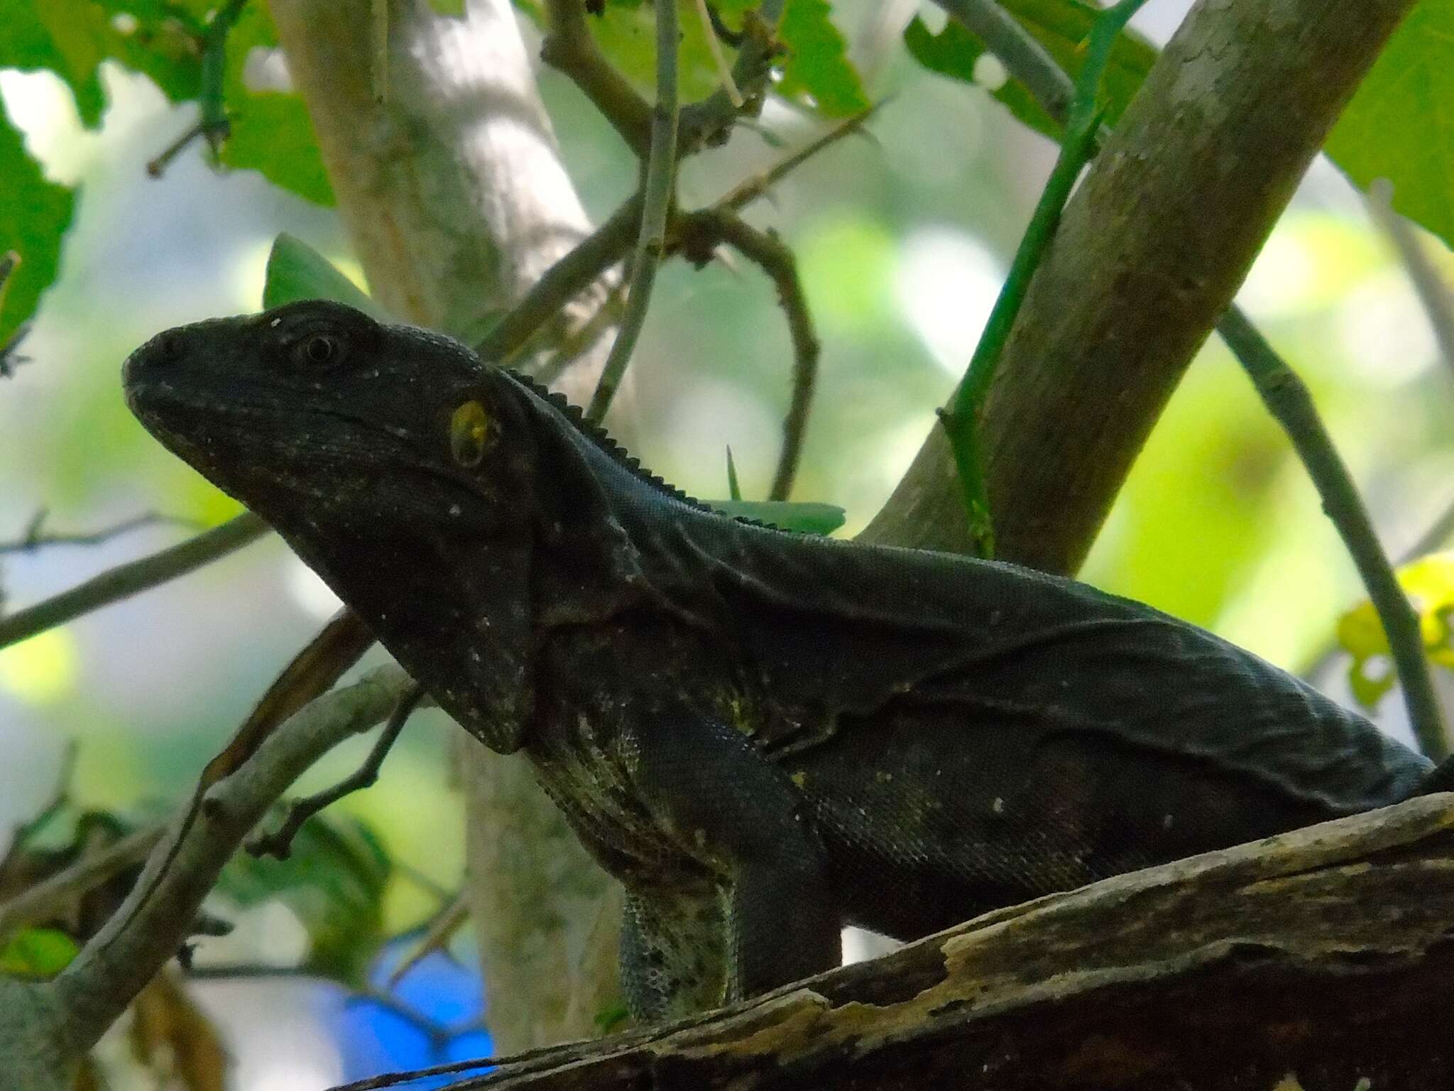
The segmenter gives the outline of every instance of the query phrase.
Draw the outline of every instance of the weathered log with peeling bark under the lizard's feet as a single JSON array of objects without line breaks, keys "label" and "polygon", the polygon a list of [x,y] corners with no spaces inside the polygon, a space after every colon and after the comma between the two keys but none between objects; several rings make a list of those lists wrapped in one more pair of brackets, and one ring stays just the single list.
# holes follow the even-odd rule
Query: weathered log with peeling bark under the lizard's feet
[{"label": "weathered log with peeling bark under the lizard's feet", "polygon": [[451,1087],[1448,1088],[1451,804],[1118,876]]}]

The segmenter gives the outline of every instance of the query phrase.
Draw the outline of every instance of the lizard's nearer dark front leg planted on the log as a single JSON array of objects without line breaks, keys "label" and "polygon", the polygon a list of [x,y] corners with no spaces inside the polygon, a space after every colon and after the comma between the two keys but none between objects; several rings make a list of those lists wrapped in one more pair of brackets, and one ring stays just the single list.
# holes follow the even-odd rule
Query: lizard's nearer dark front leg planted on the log
[{"label": "lizard's nearer dark front leg planted on the log", "polygon": [[698,710],[634,719],[625,738],[634,743],[640,799],[663,831],[721,876],[723,999],[838,966],[842,912],[823,845],[787,774]]}]

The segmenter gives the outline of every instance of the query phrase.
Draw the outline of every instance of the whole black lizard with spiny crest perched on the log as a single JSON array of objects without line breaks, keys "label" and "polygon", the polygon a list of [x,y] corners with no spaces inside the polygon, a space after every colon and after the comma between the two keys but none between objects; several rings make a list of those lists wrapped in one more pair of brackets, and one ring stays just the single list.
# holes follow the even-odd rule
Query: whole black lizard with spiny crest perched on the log
[{"label": "whole black lizard with spiny crest perched on the log", "polygon": [[625,883],[659,1018],[984,909],[1402,800],[1429,762],[1067,579],[794,535],[564,401],[330,303],[158,335],[142,423],[263,515]]}]

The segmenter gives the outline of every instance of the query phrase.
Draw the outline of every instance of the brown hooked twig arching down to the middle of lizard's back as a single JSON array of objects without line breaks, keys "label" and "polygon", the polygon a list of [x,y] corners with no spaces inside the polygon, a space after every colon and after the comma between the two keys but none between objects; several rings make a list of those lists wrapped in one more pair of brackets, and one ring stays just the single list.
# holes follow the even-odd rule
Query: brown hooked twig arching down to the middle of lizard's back
[{"label": "brown hooked twig arching down to the middle of lizard's back", "polygon": [[820,343],[813,330],[807,295],[798,279],[792,250],[772,231],[759,231],[733,212],[715,208],[682,217],[682,237],[688,257],[702,260],[718,241],[724,241],[743,257],[756,263],[778,288],[778,303],[788,320],[792,337],[792,400],[782,422],[782,451],[772,476],[769,500],[785,500],[792,490],[798,463],[803,458],[803,436],[807,432],[808,410],[817,385]]}]

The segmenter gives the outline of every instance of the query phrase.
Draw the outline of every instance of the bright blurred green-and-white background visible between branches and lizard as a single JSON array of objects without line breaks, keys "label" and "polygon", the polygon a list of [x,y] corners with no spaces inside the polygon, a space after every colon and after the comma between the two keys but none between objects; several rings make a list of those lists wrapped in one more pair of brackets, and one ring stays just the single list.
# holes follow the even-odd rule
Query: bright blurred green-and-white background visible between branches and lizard
[{"label": "bright blurred green-and-white background visible between branches and lizard", "polygon": [[[1185,4],[1152,4],[1165,39]],[[843,141],[784,182],[750,218],[795,249],[823,339],[822,380],[797,499],[842,505],[852,534],[885,499],[963,371],[1054,148],[965,84],[926,74],[897,39],[861,33],[871,0],[836,6],[875,100],[871,138]],[[925,9],[926,19],[933,12]],[[936,22],[935,22],[936,25]],[[595,217],[632,185],[632,161],[585,100],[541,74],[566,161]],[[0,71],[29,148],[80,185],[61,278],[25,343],[31,362],[0,383],[0,540],[39,508],[52,531],[95,529],[144,511],[205,524],[234,513],[126,412],[118,369],[157,330],[256,310],[273,237],[291,231],[345,268],[336,214],[249,172],[215,173],[199,151],[161,179],[144,164],[186,129],[145,80],[106,68],[111,109],[84,131],[49,74]],[[817,124],[772,106],[788,147]],[[781,153],[752,132],[686,166],[688,205]],[[1445,273],[1442,244],[1425,247]],[[1454,377],[1362,199],[1319,161],[1258,260],[1240,301],[1313,390],[1390,553],[1454,503]],[[776,457],[790,375],[771,285],[750,266],[664,268],[632,364],[634,403],[614,420],[646,464],[696,495],[724,496],[724,448],[749,497]],[[1073,428],[1075,422],[1067,422]],[[150,527],[95,547],[0,557],[6,608],[52,595],[190,531]],[[1352,566],[1288,444],[1217,342],[1192,365],[1141,455],[1083,576],[1307,671],[1338,615],[1362,598]],[[334,610],[276,540],[64,628],[0,652],[0,826],[49,796],[68,742],[86,806],[156,815],[198,771],[276,671]],[[1317,681],[1346,697],[1330,660]],[[1405,735],[1397,695],[1378,710]],[[374,788],[340,807],[365,819],[398,868],[382,927],[416,927],[461,884],[449,724],[414,719]],[[301,790],[350,771],[368,740],[340,748]],[[276,903],[237,914],[199,964],[286,964],[304,943]],[[468,930],[465,930],[467,932]],[[397,957],[390,947],[388,957]],[[199,992],[225,1027],[243,1091],[311,1091],[346,1078],[480,1055],[468,940],[397,992],[348,998],[330,985],[254,973]],[[377,969],[374,980],[382,982]],[[458,1031],[458,1033],[457,1033]],[[122,1052],[121,1043],[111,1049]],[[121,1071],[121,1069],[118,1069]],[[125,1075],[113,1085],[121,1090]],[[140,1075],[134,1076],[141,1079]],[[135,1084],[144,1087],[145,1084]]]}]

